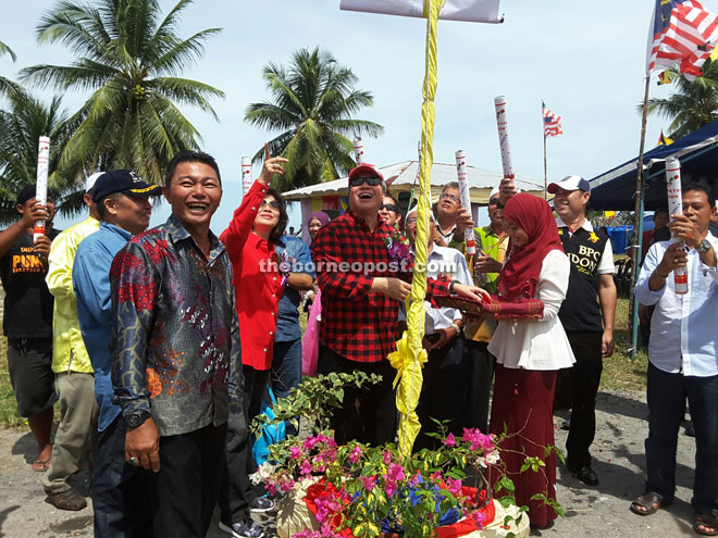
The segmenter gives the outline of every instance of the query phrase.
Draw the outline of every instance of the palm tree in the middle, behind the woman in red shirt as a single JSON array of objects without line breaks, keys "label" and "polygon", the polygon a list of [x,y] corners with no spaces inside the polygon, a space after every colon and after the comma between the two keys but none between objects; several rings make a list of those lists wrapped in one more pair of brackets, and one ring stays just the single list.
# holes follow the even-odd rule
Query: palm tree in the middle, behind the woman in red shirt
[{"label": "palm tree in the middle, behind the woman in red shirt", "polygon": [[[289,67],[268,64],[263,70],[272,98],[247,108],[245,121],[280,130],[269,142],[273,155],[289,160],[280,188],[297,188],[335,179],[355,163],[349,157],[354,135],[376,137],[384,127],[351,115],[374,102],[369,91],[356,90],[357,76],[336,65],[334,58],[315,48],[292,55]],[[264,157],[261,148],[253,158]]]}]

